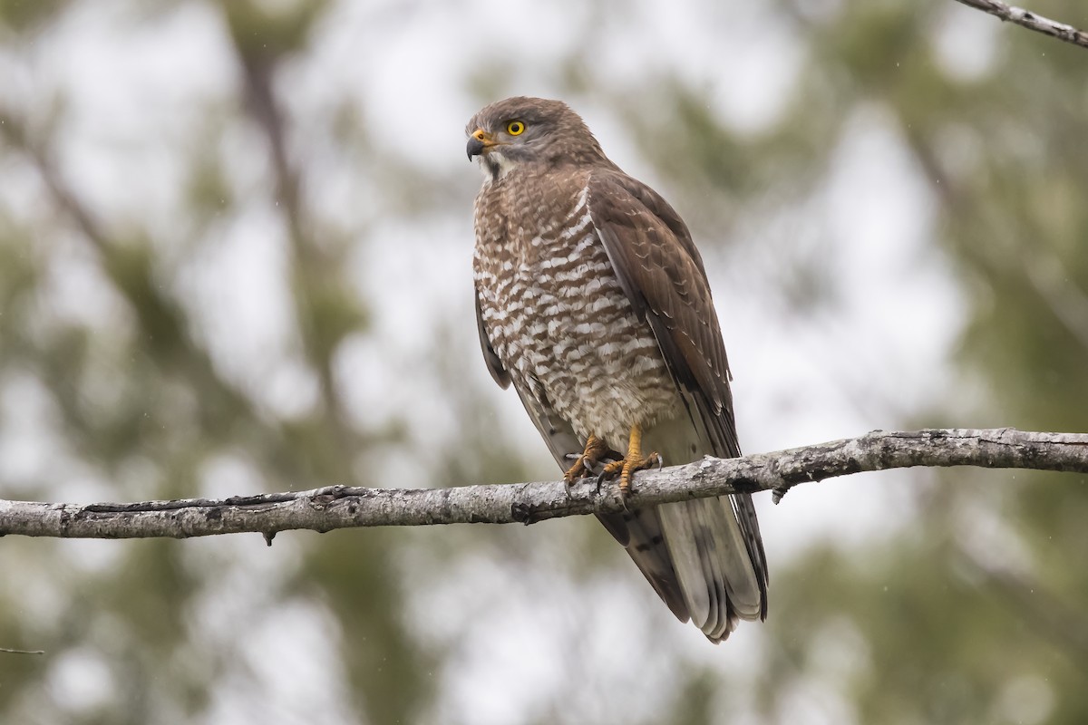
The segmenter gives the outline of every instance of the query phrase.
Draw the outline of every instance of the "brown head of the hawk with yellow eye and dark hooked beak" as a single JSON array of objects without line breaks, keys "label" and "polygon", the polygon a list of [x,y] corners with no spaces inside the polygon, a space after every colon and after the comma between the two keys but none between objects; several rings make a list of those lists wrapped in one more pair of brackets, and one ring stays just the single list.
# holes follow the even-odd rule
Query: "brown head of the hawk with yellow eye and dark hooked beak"
[{"label": "brown head of the hawk with yellow eye and dark hooked beak", "polygon": [[605,161],[585,122],[562,101],[518,96],[481,109],[465,128],[469,160],[492,180],[515,168]]}]

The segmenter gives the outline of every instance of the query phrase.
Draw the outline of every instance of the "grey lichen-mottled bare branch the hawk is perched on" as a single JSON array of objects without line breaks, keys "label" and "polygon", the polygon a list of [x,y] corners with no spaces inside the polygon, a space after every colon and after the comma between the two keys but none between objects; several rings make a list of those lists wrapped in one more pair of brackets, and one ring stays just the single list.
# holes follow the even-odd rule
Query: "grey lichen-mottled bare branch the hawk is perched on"
[{"label": "grey lichen-mottled bare branch the hawk is perched on", "polygon": [[[874,430],[740,459],[713,459],[639,474],[626,505],[644,507],[724,493],[774,490],[776,502],[793,486],[864,471],[973,465],[1088,473],[1088,434],[1027,433],[1013,428]],[[271,543],[282,530],[327,532],[359,526],[535,523],[559,516],[616,512],[618,487],[583,480],[570,492],[561,482],[442,489],[329,486],[224,500],[140,503],[0,501],[0,535],[66,538],[148,538],[261,533]]]}]

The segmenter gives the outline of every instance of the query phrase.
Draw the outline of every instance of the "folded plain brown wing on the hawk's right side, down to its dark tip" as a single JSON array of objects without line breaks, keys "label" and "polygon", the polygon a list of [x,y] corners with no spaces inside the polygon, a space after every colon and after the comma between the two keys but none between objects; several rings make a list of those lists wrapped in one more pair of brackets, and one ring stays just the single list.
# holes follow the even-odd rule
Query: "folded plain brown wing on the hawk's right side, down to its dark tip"
[{"label": "folded plain brown wing on the hawk's right side, down to its dark tip", "polygon": [[[726,348],[706,271],[687,225],[653,189],[619,171],[591,175],[589,203],[623,291],[653,328],[685,400],[694,403],[712,452],[740,455]],[[755,568],[765,617],[767,560],[752,498],[734,495],[730,503]]]}]

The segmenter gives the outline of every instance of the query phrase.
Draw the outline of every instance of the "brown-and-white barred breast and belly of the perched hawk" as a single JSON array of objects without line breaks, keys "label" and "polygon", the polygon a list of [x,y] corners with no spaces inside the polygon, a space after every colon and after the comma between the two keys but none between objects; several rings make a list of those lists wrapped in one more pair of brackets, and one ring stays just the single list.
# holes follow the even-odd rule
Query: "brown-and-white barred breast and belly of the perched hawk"
[{"label": "brown-and-white barred breast and belly of the perched hawk", "polygon": [[478,237],[473,271],[492,346],[519,387],[583,439],[626,450],[631,426],[675,416],[679,396],[597,238],[585,180],[522,178],[518,199],[503,182],[485,185],[475,226],[491,237]]}]

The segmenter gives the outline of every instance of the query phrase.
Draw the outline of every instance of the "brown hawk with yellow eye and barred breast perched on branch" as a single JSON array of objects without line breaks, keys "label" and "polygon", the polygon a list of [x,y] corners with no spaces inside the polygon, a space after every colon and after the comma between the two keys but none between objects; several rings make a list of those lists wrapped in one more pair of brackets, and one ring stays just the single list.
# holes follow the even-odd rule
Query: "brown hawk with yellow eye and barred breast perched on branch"
[{"label": "brown hawk with yellow eye and barred breast perched on branch", "polygon": [[[605,157],[561,101],[508,98],[466,128],[475,199],[477,323],[572,483],[740,455],[729,364],[687,225]],[[655,451],[648,455],[644,451]],[[599,515],[680,621],[710,641],[767,616],[747,495]]]}]

